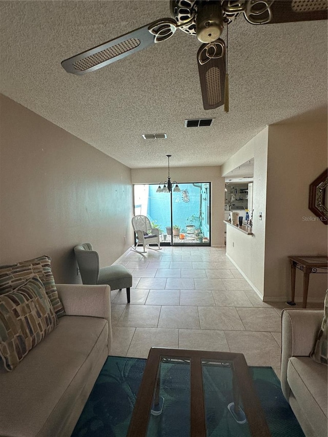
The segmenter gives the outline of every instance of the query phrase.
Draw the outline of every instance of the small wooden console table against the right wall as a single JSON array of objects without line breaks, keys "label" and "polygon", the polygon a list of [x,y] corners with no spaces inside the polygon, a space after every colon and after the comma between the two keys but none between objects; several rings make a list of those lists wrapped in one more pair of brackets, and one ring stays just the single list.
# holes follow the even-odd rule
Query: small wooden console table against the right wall
[{"label": "small wooden console table against the right wall", "polygon": [[[291,281],[292,281],[292,300],[287,302],[289,305],[295,305],[295,278],[296,268],[303,272],[303,302],[302,307],[306,308],[308,300],[308,289],[310,273],[328,273],[328,257],[326,256],[289,256],[291,262]],[[318,272],[318,269],[323,271]]]}]

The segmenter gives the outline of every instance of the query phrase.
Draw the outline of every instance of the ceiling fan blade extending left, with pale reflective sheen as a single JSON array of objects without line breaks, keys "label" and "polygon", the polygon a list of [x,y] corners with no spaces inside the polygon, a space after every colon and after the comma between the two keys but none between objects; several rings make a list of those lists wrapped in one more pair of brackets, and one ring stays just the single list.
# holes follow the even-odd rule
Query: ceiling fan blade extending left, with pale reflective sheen
[{"label": "ceiling fan blade extending left, with pale reflective sheen", "polygon": [[162,18],[100,46],[65,59],[61,61],[61,66],[68,73],[77,75],[90,73],[132,53],[145,49],[154,43],[168,39],[175,31],[175,20]]}]

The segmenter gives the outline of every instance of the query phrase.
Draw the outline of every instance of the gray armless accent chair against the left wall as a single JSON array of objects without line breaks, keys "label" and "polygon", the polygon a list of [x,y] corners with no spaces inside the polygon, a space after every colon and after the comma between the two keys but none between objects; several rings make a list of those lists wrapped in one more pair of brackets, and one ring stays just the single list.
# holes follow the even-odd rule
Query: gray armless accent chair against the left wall
[{"label": "gray armless accent chair against the left wall", "polygon": [[74,253],[82,282],[89,285],[107,284],[111,290],[127,289],[127,300],[130,303],[130,287],[132,275],[129,270],[120,264],[99,268],[99,255],[90,243],[79,244],[74,247]]}]

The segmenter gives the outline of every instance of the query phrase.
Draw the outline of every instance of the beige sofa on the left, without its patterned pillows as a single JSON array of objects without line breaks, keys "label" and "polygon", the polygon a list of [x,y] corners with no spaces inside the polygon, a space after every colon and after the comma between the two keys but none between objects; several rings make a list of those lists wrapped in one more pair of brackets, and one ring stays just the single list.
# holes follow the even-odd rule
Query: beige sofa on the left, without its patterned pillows
[{"label": "beige sofa on the left, without its patterned pillows", "polygon": [[110,287],[56,285],[66,315],[11,372],[0,374],[0,435],[71,435],[111,341]]}]

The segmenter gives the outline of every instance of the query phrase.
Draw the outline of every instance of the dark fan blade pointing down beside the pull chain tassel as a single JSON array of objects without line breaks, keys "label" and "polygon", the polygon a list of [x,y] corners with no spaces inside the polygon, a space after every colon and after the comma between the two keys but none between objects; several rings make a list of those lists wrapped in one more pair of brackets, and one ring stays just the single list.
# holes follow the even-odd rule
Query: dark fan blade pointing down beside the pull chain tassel
[{"label": "dark fan blade pointing down beside the pull chain tassel", "polygon": [[204,109],[224,104],[226,80],[226,44],[223,39],[202,44],[197,52],[197,64]]}]

